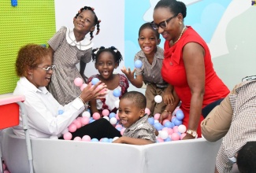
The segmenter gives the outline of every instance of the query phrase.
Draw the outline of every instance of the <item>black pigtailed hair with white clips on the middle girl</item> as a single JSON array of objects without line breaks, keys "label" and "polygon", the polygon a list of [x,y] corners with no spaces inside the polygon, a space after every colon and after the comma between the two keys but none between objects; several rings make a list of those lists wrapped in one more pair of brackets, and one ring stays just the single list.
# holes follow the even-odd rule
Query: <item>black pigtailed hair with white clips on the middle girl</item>
[{"label": "black pigtailed hair with white clips on the middle girl", "polygon": [[116,47],[111,46],[109,48],[105,48],[104,46],[101,46],[99,48],[96,48],[96,49],[92,50],[92,53],[91,53],[92,61],[94,61],[95,63],[98,62],[98,56],[102,52],[112,53],[113,54],[113,59],[114,59],[115,63],[117,63],[117,65],[119,65],[120,62],[123,60],[123,56],[121,55],[119,50],[117,50]]}]

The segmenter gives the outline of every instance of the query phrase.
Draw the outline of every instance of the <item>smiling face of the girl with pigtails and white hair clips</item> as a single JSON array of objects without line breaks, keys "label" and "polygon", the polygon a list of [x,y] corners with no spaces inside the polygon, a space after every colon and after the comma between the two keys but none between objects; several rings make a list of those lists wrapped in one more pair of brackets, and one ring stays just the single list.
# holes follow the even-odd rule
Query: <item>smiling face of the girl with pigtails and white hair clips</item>
[{"label": "smiling face of the girl with pigtails and white hair clips", "polygon": [[98,60],[95,63],[95,68],[103,79],[109,79],[113,75],[113,70],[117,68],[117,63],[114,61],[112,53],[102,52],[98,56]]}]

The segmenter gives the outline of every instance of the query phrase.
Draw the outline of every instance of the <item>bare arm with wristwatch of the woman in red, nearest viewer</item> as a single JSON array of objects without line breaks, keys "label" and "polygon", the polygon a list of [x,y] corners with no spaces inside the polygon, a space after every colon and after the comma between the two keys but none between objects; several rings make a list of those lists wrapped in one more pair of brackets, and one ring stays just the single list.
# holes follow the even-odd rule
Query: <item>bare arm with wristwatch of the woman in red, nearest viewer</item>
[{"label": "bare arm with wristwatch of the woman in red, nearest viewer", "polygon": [[[191,104],[187,129],[197,131],[202,112],[202,101],[205,93],[205,50],[196,42],[188,42],[184,46],[183,60],[187,75],[187,83],[191,90]],[[186,135],[184,139],[193,138]]]}]

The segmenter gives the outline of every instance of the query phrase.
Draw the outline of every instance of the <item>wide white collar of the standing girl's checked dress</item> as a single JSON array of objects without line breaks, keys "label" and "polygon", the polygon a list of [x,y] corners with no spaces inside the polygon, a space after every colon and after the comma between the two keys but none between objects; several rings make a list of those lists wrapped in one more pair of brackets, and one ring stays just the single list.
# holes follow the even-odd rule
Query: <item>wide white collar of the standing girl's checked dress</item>
[{"label": "wide white collar of the standing girl's checked dress", "polygon": [[88,50],[93,46],[93,43],[86,37],[80,42],[76,42],[74,31],[70,28],[67,28],[66,40],[71,46],[76,46],[79,50]]}]

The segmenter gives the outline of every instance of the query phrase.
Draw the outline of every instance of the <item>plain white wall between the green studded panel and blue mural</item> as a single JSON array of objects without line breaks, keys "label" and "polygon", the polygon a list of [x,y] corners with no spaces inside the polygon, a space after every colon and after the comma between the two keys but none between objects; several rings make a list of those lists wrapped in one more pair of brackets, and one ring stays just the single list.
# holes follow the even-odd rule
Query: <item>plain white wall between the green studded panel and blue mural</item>
[{"label": "plain white wall between the green studded panel and blue mural", "polygon": [[[124,0],[55,0],[56,30],[58,31],[61,26],[73,28],[73,17],[83,6],[94,7],[98,19],[102,20],[99,34],[92,39],[95,43],[93,48],[115,46],[124,56]],[[87,38],[90,39],[89,34]],[[124,61],[121,61],[119,67],[123,66]],[[117,72],[121,72],[120,68],[117,68]],[[87,77],[97,73],[92,61],[87,64]]]}]

